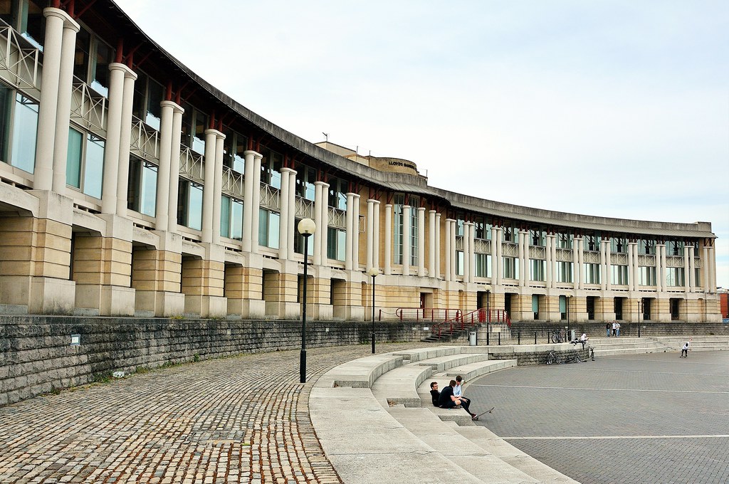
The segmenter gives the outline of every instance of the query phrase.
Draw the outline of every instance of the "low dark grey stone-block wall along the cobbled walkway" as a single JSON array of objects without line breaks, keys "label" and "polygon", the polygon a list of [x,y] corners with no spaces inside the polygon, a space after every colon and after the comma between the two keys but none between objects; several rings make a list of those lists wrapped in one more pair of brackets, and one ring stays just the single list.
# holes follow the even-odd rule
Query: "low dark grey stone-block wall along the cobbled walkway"
[{"label": "low dark grey stone-block wall along the cobbled walkway", "polygon": [[[407,323],[378,341],[418,340]],[[308,348],[369,344],[371,325],[308,321]],[[77,335],[79,344],[72,343]],[[0,316],[0,405],[165,364],[301,348],[300,321]]]}]

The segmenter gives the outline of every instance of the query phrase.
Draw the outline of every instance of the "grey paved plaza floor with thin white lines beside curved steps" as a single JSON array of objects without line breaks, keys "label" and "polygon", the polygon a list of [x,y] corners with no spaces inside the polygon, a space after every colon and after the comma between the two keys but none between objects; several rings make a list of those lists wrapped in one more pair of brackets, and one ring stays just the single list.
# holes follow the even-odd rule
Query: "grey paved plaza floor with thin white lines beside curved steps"
[{"label": "grey paved plaza floor with thin white lines beside curved steps", "polygon": [[517,367],[466,393],[496,406],[480,424],[580,483],[729,482],[729,351]]}]

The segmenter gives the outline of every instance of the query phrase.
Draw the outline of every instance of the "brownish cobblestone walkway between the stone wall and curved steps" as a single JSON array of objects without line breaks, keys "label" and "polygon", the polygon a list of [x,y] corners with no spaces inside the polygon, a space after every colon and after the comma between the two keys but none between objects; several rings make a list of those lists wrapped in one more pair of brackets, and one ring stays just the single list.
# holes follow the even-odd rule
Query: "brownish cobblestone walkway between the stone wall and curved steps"
[{"label": "brownish cobblestone walkway between the stone wall and curved steps", "polygon": [[[422,343],[379,344],[378,353]],[[308,414],[368,345],[247,354],[0,407],[0,483],[340,483]]]}]

